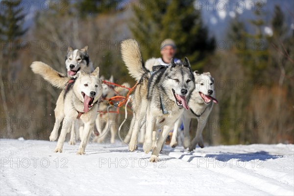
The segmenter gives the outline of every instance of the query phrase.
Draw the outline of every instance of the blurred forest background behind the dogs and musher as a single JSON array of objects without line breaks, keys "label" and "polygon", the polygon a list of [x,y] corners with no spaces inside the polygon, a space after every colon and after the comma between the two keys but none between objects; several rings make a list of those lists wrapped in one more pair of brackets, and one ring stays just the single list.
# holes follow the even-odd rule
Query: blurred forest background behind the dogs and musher
[{"label": "blurred forest background behind the dogs and musher", "polygon": [[101,74],[114,75],[119,84],[134,84],[121,59],[120,42],[138,40],[147,60],[160,57],[160,42],[172,38],[177,58],[187,56],[193,70],[215,78],[219,104],[204,129],[205,142],[293,144],[293,7],[283,11],[275,1],[273,9],[267,9],[265,0],[250,1],[250,17],[244,18],[233,6],[220,39],[218,29],[211,31],[203,22],[207,6],[221,9],[218,2],[1,0],[0,138],[49,139],[60,91],[32,73],[33,61],[66,73],[68,47],[88,45]]}]

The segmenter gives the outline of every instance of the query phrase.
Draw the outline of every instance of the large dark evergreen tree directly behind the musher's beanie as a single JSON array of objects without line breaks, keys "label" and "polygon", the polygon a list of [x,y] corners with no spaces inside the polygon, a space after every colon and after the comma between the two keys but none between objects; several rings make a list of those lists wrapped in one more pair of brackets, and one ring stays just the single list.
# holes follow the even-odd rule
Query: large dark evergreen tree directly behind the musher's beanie
[{"label": "large dark evergreen tree directly behind the musher's beanie", "polygon": [[[214,39],[202,24],[201,13],[194,0],[144,1],[146,10],[135,6],[136,18],[131,31],[141,43],[144,59],[159,56],[160,43],[171,38],[177,46],[176,57],[187,56],[192,69],[201,69],[207,54],[214,50]],[[202,61],[202,62],[201,62]]]}]

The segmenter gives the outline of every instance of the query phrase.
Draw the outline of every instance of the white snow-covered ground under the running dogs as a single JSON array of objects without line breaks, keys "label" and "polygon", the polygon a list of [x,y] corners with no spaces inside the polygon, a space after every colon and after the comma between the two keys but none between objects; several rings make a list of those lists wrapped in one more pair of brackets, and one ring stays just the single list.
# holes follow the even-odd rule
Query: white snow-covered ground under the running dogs
[{"label": "white snow-covered ground under the running dogs", "polygon": [[164,147],[150,163],[142,145],[0,140],[0,195],[294,195],[294,145]]}]

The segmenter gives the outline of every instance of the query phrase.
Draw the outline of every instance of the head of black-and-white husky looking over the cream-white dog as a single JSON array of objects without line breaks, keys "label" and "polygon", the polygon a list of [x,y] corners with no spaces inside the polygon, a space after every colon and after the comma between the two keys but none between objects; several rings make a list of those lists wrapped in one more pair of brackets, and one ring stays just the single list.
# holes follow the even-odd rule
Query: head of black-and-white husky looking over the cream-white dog
[{"label": "head of black-and-white husky looking over the cream-white dog", "polygon": [[87,51],[88,46],[82,49],[68,48],[65,65],[69,76],[73,77],[79,70],[85,73],[92,73],[94,71],[93,63],[90,61]]}]

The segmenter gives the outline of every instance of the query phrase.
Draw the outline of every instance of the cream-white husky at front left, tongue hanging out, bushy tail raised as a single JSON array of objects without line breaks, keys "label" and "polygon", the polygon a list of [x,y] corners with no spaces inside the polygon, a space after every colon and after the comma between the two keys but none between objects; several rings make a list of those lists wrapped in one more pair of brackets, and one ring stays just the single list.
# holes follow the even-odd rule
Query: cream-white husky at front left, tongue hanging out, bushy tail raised
[{"label": "cream-white husky at front left, tongue hanging out, bushy tail raised", "polygon": [[62,152],[65,136],[71,127],[70,125],[75,119],[81,119],[84,123],[84,129],[77,154],[85,154],[85,147],[90,134],[94,130],[98,99],[102,94],[99,68],[97,67],[93,73],[83,71],[76,73],[76,78],[71,83],[69,83],[70,77],[58,73],[43,62],[33,62],[31,69],[34,73],[38,73],[48,80],[53,86],[64,89],[63,108],[59,108],[63,111],[60,119],[64,119],[64,121],[54,152]]}]

